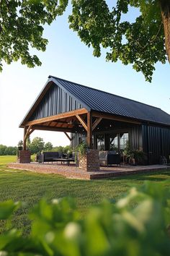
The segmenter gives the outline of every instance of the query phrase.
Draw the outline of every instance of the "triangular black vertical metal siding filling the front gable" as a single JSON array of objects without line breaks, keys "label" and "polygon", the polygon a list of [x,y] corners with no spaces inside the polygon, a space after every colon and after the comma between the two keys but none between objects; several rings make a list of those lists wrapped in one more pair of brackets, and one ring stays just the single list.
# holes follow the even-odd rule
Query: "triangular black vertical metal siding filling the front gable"
[{"label": "triangular black vertical metal siding filling the front gable", "polygon": [[48,93],[42,98],[42,101],[37,106],[29,121],[61,114],[82,107],[83,106],[81,106],[79,101],[75,100],[66,91],[53,84],[48,90]]}]

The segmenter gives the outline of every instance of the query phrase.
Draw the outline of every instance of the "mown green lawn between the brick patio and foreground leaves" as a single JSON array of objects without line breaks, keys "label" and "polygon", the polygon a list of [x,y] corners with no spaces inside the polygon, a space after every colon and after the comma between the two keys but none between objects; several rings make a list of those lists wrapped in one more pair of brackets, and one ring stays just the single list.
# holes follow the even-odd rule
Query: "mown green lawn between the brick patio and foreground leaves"
[{"label": "mown green lawn between the brick patio and foreground leaves", "polygon": [[[66,179],[55,174],[35,174],[7,168],[6,163],[12,161],[16,161],[15,156],[0,156],[0,201],[12,199],[25,202],[22,209],[14,216],[14,224],[23,227],[25,233],[29,231],[30,226],[30,221],[25,215],[41,197],[46,197],[48,200],[74,197],[76,205],[81,210],[81,217],[84,218],[90,205],[97,204],[104,198],[117,200],[130,187],[141,186],[146,180],[164,182],[169,179],[168,184],[170,184],[170,169],[152,174],[83,181]],[[0,232],[3,228],[4,224],[0,223]]]}]

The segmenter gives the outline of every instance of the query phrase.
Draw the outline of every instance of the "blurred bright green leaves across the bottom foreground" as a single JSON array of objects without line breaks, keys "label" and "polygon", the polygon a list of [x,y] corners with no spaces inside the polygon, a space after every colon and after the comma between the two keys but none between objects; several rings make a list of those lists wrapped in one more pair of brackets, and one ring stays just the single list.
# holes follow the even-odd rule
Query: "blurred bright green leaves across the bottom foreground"
[{"label": "blurred bright green leaves across the bottom foreground", "polygon": [[[137,203],[138,202],[138,203]],[[0,255],[168,256],[170,252],[170,189],[147,182],[130,189],[118,202],[102,202],[79,220],[71,198],[40,200],[30,212],[32,231],[23,237],[12,228],[19,202],[0,203],[6,232],[0,235]]]}]

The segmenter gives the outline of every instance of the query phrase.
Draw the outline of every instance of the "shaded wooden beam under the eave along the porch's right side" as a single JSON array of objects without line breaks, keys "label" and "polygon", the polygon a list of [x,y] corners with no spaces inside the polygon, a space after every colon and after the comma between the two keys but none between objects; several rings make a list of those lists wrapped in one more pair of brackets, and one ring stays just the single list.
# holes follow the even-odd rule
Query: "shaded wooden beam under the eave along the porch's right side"
[{"label": "shaded wooden beam under the eave along the porch's right side", "polygon": [[135,121],[133,119],[128,119],[124,116],[115,116],[113,114],[103,114],[101,112],[97,112],[97,111],[93,111],[92,115],[95,117],[102,117],[102,119],[111,119],[111,120],[115,120],[115,121],[123,121],[126,123],[130,123],[130,124],[142,124],[141,121]]}]

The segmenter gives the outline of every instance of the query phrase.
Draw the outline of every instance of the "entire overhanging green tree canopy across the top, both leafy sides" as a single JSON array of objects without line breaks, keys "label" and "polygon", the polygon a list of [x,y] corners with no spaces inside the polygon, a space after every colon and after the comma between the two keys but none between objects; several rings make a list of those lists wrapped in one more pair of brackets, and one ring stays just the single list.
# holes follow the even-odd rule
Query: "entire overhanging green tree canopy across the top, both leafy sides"
[{"label": "entire overhanging green tree canopy across the top, both leafy sides", "polygon": [[[170,1],[117,0],[110,8],[106,0],[72,0],[70,28],[81,40],[94,48],[94,56],[106,48],[107,61],[120,59],[133,64],[151,82],[154,64],[170,61]],[[1,61],[35,67],[41,62],[30,55],[30,46],[45,51],[48,40],[42,38],[43,25],[48,25],[66,10],[68,0],[0,0],[0,68]],[[139,15],[128,21],[128,11],[135,7]]]}]

